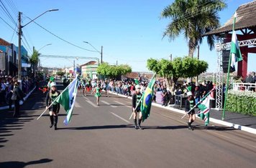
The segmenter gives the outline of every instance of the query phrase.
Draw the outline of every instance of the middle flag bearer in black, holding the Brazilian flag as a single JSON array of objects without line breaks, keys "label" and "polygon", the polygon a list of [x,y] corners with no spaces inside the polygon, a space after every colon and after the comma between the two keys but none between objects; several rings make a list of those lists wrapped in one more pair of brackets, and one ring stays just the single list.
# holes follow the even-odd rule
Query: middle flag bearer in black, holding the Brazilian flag
[{"label": "middle flag bearer in black, holding the Brazilian flag", "polygon": [[[142,112],[140,111],[142,93],[140,93],[140,85],[137,84],[135,86],[135,94],[132,94],[132,113],[133,113],[133,121],[135,129],[143,129],[140,127],[140,123],[142,122]],[[135,109],[136,108],[136,109]],[[139,122],[137,125],[137,113],[139,113]]]}]

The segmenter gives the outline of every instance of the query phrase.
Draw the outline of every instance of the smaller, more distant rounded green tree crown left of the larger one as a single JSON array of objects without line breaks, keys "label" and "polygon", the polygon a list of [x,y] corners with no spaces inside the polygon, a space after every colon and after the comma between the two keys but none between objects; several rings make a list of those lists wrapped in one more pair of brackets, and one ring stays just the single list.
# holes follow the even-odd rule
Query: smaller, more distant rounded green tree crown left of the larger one
[{"label": "smaller, more distant rounded green tree crown left of the larger one", "polygon": [[103,63],[103,64],[100,64],[97,69],[98,74],[106,75],[111,78],[116,78],[117,76],[125,75],[130,72],[132,72],[132,68],[127,64],[115,66],[115,65],[109,65],[108,63]]}]

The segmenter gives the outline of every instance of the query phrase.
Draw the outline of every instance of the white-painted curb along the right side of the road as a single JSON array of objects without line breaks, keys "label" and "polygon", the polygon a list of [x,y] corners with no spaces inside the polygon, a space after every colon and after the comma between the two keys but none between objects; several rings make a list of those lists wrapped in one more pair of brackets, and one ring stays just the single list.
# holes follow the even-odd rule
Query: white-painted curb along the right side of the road
[{"label": "white-painted curb along the right side of the road", "polygon": [[[116,94],[116,93],[113,93],[113,92],[109,92],[109,93]],[[127,97],[127,96],[124,96],[122,94],[116,94],[116,95],[119,96],[119,97],[125,97],[127,99],[132,99],[132,97]],[[172,112],[178,112],[180,114],[185,114],[185,112],[183,110],[175,109],[173,107],[163,107],[161,104],[156,104],[154,102],[152,102],[152,106],[160,107],[162,109],[168,109]],[[199,117],[196,116],[196,118],[199,118]],[[214,118],[210,117],[210,122],[213,122],[215,124],[221,124],[221,125],[224,125],[224,126],[227,126],[227,127],[234,128],[234,129],[239,129],[239,130],[244,131],[244,132],[249,132],[249,133],[252,133],[252,134],[256,134],[256,129],[253,129],[251,127],[242,126],[242,125],[239,125],[239,124],[234,124],[234,123],[231,123],[231,122],[224,122],[221,119],[214,119]]]}]

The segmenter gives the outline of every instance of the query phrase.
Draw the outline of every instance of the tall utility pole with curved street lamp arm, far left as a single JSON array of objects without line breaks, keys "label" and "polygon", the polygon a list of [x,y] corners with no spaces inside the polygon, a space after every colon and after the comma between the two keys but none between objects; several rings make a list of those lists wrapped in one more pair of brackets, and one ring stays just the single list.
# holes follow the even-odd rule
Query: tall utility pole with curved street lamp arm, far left
[{"label": "tall utility pole with curved street lamp arm, far left", "polygon": [[[50,9],[48,11],[58,11],[59,9]],[[37,16],[35,19],[39,18],[40,16],[42,16],[43,14],[45,14],[46,12],[40,14],[39,16]],[[22,28],[24,26],[27,26],[27,24],[30,24],[32,21],[35,21],[35,19],[32,19],[31,21],[29,21],[27,24],[25,24],[24,26],[22,26],[22,19],[21,19],[21,15],[22,12],[19,11],[19,62],[18,62],[18,80],[22,79]]]}]

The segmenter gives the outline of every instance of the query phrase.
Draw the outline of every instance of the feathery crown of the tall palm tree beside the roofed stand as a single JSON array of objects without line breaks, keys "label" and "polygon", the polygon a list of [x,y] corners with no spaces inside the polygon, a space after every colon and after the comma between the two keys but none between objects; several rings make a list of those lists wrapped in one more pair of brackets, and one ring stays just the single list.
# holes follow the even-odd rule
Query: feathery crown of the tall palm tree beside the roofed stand
[{"label": "feathery crown of the tall palm tree beside the roofed stand", "polygon": [[[174,40],[183,33],[188,40],[188,56],[193,56],[196,46],[203,41],[203,35],[220,26],[218,11],[226,6],[224,0],[175,0],[161,14],[162,18],[172,19],[163,37]],[[207,36],[210,50],[214,49],[215,38]]]}]

